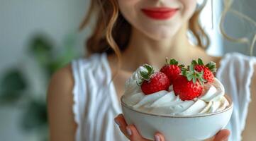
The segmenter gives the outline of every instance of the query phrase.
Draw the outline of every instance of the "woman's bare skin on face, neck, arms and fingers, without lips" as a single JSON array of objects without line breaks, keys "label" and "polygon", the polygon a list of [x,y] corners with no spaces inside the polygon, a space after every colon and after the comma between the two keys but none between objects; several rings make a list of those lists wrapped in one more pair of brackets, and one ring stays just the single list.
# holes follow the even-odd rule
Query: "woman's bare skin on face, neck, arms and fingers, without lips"
[{"label": "woman's bare skin on face, neck, arms and fingers, without lips", "polygon": [[[132,35],[128,48],[123,51],[122,66],[118,75],[113,79],[113,83],[120,99],[123,94],[123,85],[132,75],[133,71],[143,63],[149,63],[156,70],[160,69],[165,58],[174,58],[179,62],[188,65],[192,59],[201,58],[205,63],[215,61],[217,67],[221,57],[209,56],[204,49],[189,43],[187,39],[188,20],[196,10],[196,0],[118,0],[119,8],[123,16],[132,25]],[[178,13],[169,20],[152,20],[140,11],[141,8],[168,6],[179,8]],[[116,73],[116,56],[108,56],[112,75]],[[256,68],[256,67],[255,67]],[[256,71],[255,71],[256,72]],[[252,84],[256,84],[256,73],[253,75]],[[72,87],[74,80],[70,65],[57,71],[53,75],[48,90],[48,114],[50,122],[50,140],[74,140],[77,125],[74,123],[72,113]],[[253,87],[252,87],[253,88]],[[255,90],[251,90],[255,95]],[[252,97],[252,102],[248,111],[247,125],[243,135],[246,141],[255,140],[254,133],[256,115],[256,97]],[[145,141],[140,136],[134,125],[127,125],[123,115],[115,118],[121,132],[132,141]],[[129,135],[131,133],[131,135]],[[208,140],[228,140],[228,130],[221,130],[215,137]],[[155,134],[157,139],[165,140],[161,133]]]}]

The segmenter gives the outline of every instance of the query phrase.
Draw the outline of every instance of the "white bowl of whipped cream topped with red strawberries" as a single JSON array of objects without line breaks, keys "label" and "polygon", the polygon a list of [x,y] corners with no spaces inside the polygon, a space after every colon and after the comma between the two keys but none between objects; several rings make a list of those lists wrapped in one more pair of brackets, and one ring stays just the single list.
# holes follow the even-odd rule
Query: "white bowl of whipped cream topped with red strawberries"
[{"label": "white bowl of whipped cream topped with red strawberries", "polygon": [[206,140],[223,129],[233,102],[214,77],[216,64],[192,61],[187,68],[171,59],[159,72],[147,64],[126,81],[123,115],[140,135],[153,140],[160,132],[169,141]]}]

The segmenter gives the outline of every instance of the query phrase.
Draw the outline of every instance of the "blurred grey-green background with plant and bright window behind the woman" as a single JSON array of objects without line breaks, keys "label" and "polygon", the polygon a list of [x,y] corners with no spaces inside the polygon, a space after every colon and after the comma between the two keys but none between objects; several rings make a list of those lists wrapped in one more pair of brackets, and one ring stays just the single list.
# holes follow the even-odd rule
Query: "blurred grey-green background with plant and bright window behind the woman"
[{"label": "blurred grey-green background with plant and bright window behind the woman", "polygon": [[[248,55],[247,44],[228,42],[218,32],[221,2],[213,1],[213,18],[210,1],[201,14],[212,41],[208,53],[221,56],[238,51]],[[82,32],[77,28],[88,6],[89,0],[0,1],[0,140],[48,140],[48,81],[58,68],[86,54],[84,42],[90,27]],[[255,7],[255,0],[233,4],[253,20]],[[231,37],[252,39],[256,33],[252,24],[233,14],[228,14],[224,26]]]}]

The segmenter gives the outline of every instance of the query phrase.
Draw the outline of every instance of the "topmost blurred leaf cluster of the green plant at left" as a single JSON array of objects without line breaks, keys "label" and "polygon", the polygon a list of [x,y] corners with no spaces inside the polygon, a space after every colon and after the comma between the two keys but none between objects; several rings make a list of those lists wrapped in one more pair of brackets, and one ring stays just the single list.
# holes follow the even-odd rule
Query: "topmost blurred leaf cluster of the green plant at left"
[{"label": "topmost blurred leaf cluster of the green plant at left", "polygon": [[42,35],[35,36],[28,48],[28,52],[33,54],[35,60],[38,61],[41,68],[49,76],[48,78],[58,68],[65,66],[77,56],[74,51],[74,37],[67,37],[65,39],[64,47],[59,54],[56,54],[58,51],[55,48],[50,39]]}]

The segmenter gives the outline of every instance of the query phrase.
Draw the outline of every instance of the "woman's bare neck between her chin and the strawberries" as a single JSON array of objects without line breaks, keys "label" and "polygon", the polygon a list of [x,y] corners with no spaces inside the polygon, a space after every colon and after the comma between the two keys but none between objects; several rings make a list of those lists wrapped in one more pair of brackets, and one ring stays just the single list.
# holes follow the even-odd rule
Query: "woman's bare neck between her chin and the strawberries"
[{"label": "woman's bare neck between her chin and the strawberries", "polygon": [[133,28],[130,44],[122,53],[122,64],[125,64],[121,67],[122,70],[135,71],[135,68],[143,63],[159,69],[165,63],[166,57],[175,58],[178,61],[188,60],[195,47],[189,44],[187,30],[187,25],[184,25],[172,39],[156,41]]}]

